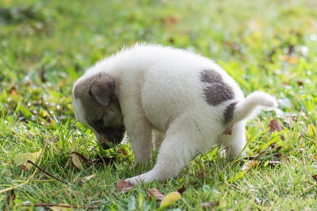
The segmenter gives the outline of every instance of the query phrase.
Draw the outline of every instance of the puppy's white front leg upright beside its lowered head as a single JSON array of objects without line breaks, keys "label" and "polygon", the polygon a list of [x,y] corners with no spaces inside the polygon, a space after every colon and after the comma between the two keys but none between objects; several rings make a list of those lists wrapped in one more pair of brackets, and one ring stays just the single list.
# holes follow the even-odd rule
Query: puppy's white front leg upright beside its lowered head
[{"label": "puppy's white front leg upright beside its lowered head", "polygon": [[151,128],[146,118],[137,118],[126,124],[130,138],[135,164],[146,161],[152,153]]}]

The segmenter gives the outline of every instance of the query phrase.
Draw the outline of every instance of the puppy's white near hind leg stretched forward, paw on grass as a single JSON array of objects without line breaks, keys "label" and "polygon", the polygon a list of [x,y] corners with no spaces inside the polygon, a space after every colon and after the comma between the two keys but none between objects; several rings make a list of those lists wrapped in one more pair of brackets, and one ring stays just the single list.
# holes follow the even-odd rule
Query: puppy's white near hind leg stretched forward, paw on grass
[{"label": "puppy's white near hind leg stretched forward, paw on grass", "polygon": [[196,151],[194,146],[188,145],[190,143],[188,142],[189,139],[185,140],[185,137],[186,135],[167,135],[161,144],[157,162],[153,169],[142,175],[126,179],[126,181],[137,184],[139,181],[146,183],[153,180],[165,181],[168,178],[177,177]]}]

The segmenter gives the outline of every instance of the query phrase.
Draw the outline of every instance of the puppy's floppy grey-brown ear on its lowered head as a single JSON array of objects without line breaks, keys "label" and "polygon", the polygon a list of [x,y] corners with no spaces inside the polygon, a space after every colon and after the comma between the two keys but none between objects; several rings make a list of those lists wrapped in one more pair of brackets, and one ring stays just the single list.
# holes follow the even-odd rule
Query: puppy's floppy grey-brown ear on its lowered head
[{"label": "puppy's floppy grey-brown ear on its lowered head", "polygon": [[95,98],[100,106],[110,104],[114,92],[114,81],[106,75],[97,75],[90,86],[89,94]]}]

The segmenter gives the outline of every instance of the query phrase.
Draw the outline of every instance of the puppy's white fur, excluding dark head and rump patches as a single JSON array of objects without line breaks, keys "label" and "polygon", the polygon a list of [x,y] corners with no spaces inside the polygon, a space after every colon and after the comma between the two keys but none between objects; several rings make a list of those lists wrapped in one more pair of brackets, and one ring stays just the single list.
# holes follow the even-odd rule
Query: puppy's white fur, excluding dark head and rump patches
[{"label": "puppy's white fur, excluding dark head and rump patches", "polygon": [[[203,70],[218,72],[234,91],[234,99],[209,105],[200,80]],[[139,180],[176,177],[193,155],[215,145],[222,144],[227,157],[243,153],[245,119],[262,107],[277,106],[274,98],[262,92],[254,92],[245,99],[239,85],[215,62],[168,47],[135,45],[124,49],[98,62],[80,80],[99,72],[106,72],[115,82],[115,95],[136,163],[151,155],[154,131],[154,146],[159,148],[157,163],[149,172],[127,179],[134,184]],[[223,113],[234,102],[237,104],[233,119],[224,125]],[[74,109],[82,109],[77,104],[80,102],[75,103]],[[81,113],[77,111],[77,115]],[[231,126],[235,129],[230,131],[231,135],[224,133]]]}]

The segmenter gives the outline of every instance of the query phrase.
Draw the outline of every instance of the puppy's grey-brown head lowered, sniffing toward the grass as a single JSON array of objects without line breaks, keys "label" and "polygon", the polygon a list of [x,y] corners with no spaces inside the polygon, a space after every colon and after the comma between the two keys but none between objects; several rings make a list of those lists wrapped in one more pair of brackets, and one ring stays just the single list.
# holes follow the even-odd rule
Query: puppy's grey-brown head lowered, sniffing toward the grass
[{"label": "puppy's grey-brown head lowered, sniffing toward the grass", "polygon": [[73,88],[72,107],[76,119],[94,132],[103,149],[124,139],[123,115],[114,93],[114,81],[107,74],[78,79]]}]

